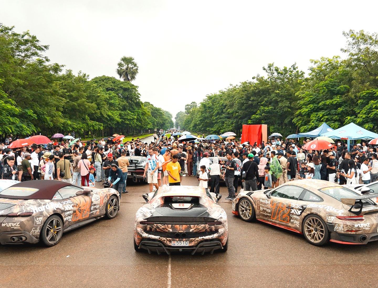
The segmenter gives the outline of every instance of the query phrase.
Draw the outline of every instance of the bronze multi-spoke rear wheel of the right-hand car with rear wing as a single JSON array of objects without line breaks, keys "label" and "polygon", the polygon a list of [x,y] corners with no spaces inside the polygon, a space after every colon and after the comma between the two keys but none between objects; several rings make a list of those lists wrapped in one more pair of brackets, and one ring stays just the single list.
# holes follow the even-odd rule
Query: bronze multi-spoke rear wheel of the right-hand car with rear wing
[{"label": "bronze multi-spoke rear wheel of the right-hand car with rear wing", "polygon": [[329,241],[327,225],[318,215],[308,215],[302,223],[302,232],[312,245],[322,246]]}]

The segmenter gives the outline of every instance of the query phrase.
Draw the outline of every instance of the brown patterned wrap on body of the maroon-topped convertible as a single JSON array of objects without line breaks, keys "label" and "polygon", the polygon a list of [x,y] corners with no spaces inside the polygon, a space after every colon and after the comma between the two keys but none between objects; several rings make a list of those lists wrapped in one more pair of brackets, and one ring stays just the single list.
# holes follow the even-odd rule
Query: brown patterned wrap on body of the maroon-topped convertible
[{"label": "brown patterned wrap on body of the maroon-topped convertible", "polygon": [[[22,183],[25,183],[26,186],[27,182]],[[12,188],[14,187],[8,189]],[[21,188],[23,190],[28,189],[28,187]],[[64,188],[71,188],[74,190],[73,192],[84,190],[83,187],[73,186],[72,184]],[[84,224],[84,221],[103,217],[108,199],[112,195],[115,195],[119,200],[119,193],[113,188],[91,188],[91,190],[89,194],[74,194],[73,197],[66,199],[54,197],[55,199],[51,200],[11,199],[3,198],[0,195],[0,243],[37,243],[40,240],[42,226],[51,215],[57,215],[62,219],[62,229],[65,232],[79,226],[78,223]],[[22,238],[19,238],[21,236]],[[14,241],[14,239],[17,239],[17,241]]]}]

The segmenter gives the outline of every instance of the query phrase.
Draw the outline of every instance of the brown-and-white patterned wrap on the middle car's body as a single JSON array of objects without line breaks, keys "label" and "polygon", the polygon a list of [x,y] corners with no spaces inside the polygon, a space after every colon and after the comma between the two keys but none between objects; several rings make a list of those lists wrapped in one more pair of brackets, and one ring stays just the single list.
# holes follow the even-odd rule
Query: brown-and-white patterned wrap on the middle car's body
[{"label": "brown-and-white patterned wrap on the middle car's body", "polygon": [[[206,215],[209,217],[201,217],[205,214],[200,214],[198,220],[196,217],[188,216],[192,214],[194,209],[191,204],[182,203],[182,208],[179,208],[180,203],[172,204],[178,205],[176,208],[168,205],[170,208],[167,215],[161,215],[159,221],[149,221],[150,217],[156,215],[159,207],[164,206],[165,197],[198,197],[199,206],[206,207]],[[220,205],[216,203],[216,195],[209,193],[205,188],[194,186],[170,186],[160,187],[157,192],[149,194],[149,201],[138,209],[135,215],[135,233],[134,241],[138,248],[145,248],[149,251],[156,251],[141,245],[143,240],[153,240],[159,243],[162,247],[161,251],[168,252],[172,247],[172,241],[186,242],[185,249],[197,250],[201,243],[212,241],[220,242],[217,249],[222,249],[227,244],[228,227],[227,215]],[[184,207],[186,205],[186,207]],[[189,214],[183,217],[183,211]],[[189,212],[193,210],[192,212]],[[195,212],[193,212],[195,213]],[[202,213],[202,212],[201,212]],[[171,216],[169,217],[168,214]],[[177,214],[177,216],[175,216]],[[169,217],[167,220],[164,220]],[[179,219],[177,222],[172,219]],[[177,237],[178,236],[178,237]],[[201,252],[204,249],[200,250]],[[206,249],[209,250],[209,249]],[[215,249],[214,249],[215,250]],[[159,252],[159,251],[158,251]]]}]

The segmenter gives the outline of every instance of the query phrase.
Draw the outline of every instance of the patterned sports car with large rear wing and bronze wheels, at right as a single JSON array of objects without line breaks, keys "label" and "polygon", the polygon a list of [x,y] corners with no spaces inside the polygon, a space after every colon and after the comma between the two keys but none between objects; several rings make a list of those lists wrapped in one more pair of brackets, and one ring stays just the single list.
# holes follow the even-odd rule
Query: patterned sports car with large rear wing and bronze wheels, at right
[{"label": "patterned sports car with large rear wing and bronze wheels, at right", "polygon": [[376,196],[323,180],[294,180],[276,189],[240,192],[232,213],[303,234],[316,246],[366,244],[378,240]]}]

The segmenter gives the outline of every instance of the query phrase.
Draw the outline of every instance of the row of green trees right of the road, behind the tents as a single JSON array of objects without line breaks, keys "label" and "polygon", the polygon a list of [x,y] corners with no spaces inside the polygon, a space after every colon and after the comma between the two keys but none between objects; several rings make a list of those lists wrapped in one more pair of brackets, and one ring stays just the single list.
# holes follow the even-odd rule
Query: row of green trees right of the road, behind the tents
[{"label": "row of green trees right of the road, behind the tents", "polygon": [[[378,34],[349,30],[340,56],[310,60],[308,76],[294,63],[263,67],[250,81],[206,95],[175,117],[181,129],[241,133],[243,124],[268,124],[288,135],[327,122],[333,128],[356,122],[378,130]],[[192,105],[195,104],[195,105]]]}]

